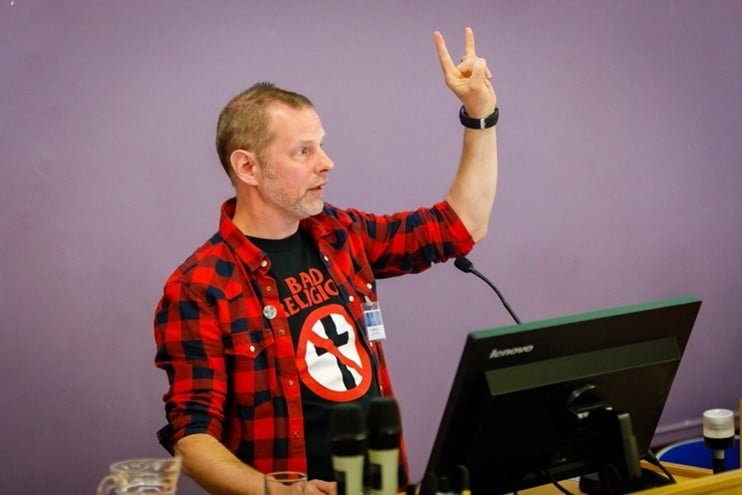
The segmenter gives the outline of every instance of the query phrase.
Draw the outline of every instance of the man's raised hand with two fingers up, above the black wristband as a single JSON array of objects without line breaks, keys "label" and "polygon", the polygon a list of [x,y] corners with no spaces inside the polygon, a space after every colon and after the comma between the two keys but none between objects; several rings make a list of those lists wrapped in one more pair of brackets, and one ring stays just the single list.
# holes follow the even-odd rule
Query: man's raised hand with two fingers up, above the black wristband
[{"label": "man's raised hand with two fingers up, above the black wristband", "polygon": [[439,31],[433,33],[433,40],[446,86],[461,100],[470,117],[482,118],[491,114],[497,106],[497,96],[490,82],[492,73],[487,61],[477,57],[474,32],[470,27],[466,28],[464,36],[464,56],[458,65],[451,59],[446,41]]}]

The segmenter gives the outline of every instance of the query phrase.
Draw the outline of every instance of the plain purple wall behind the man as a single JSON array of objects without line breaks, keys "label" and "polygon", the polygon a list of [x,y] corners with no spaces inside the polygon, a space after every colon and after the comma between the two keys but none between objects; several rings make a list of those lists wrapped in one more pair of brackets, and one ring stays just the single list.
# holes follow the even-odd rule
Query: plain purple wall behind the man
[{"label": "plain purple wall behind the man", "polygon": [[[432,203],[461,140],[432,31],[458,57],[467,24],[502,110],[471,259],[524,320],[701,297],[662,428],[736,408],[741,3],[253,3],[2,2],[4,493],[91,493],[111,461],[164,453],[152,311],[230,195],[222,105],[257,80],[302,91],[328,131],[333,203]],[[450,264],[380,287],[419,477],[464,334],[509,320]]]}]

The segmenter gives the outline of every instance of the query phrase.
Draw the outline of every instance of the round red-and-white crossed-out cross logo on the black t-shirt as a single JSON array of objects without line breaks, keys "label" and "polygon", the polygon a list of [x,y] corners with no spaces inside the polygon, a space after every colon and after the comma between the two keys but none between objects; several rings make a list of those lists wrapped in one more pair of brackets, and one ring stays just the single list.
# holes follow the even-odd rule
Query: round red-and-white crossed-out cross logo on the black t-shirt
[{"label": "round red-and-white crossed-out cross logo on the black t-shirt", "polygon": [[371,385],[371,360],[352,318],[339,304],[322,306],[304,321],[297,366],[304,385],[326,400],[351,401]]}]

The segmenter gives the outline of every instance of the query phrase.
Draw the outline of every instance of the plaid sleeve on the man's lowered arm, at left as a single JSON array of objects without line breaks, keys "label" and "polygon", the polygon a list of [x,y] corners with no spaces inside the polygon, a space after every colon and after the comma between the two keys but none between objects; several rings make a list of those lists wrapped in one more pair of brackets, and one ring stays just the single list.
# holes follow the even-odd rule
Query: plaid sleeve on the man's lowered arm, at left
[{"label": "plaid sleeve on the man's lowered arm, at left", "polygon": [[168,424],[157,435],[171,453],[186,435],[221,438],[227,378],[216,316],[205,290],[179,281],[165,286],[155,312],[155,365],[170,385],[163,396]]}]

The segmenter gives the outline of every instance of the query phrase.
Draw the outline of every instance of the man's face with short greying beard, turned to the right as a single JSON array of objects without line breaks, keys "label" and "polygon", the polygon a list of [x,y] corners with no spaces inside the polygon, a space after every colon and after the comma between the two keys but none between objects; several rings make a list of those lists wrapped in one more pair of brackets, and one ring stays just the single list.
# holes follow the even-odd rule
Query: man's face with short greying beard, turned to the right
[{"label": "man's face with short greying beard, turned to the right", "polygon": [[322,211],[327,172],[334,164],[322,149],[325,131],[312,108],[274,104],[273,141],[259,166],[263,204],[280,218],[301,220]]}]

